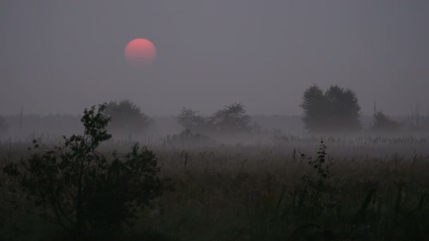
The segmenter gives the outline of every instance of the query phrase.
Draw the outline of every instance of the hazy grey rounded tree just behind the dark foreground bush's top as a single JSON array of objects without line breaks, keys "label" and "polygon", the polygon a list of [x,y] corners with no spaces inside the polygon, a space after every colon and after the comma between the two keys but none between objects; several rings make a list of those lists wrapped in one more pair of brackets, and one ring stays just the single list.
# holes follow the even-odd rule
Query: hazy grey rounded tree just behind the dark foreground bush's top
[{"label": "hazy grey rounded tree just behind the dark foreground bush's top", "polygon": [[149,116],[128,99],[110,101],[104,112],[111,118],[108,128],[114,135],[141,134],[150,124]]}]

